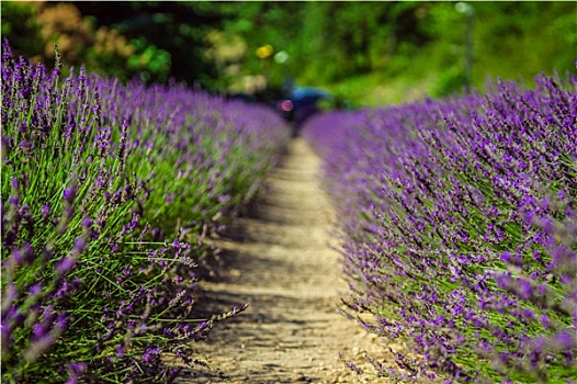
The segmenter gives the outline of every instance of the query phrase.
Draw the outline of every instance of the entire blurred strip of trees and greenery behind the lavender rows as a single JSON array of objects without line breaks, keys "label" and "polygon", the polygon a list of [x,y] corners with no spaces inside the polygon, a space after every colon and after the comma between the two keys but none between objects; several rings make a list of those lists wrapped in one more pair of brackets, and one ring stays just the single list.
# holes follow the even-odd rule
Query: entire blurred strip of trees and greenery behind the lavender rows
[{"label": "entire blurred strip of trees and greenery behind the lavender rows", "polygon": [[577,2],[1,2],[2,36],[34,59],[215,92],[287,80],[358,105],[443,97],[487,79],[574,71]]}]

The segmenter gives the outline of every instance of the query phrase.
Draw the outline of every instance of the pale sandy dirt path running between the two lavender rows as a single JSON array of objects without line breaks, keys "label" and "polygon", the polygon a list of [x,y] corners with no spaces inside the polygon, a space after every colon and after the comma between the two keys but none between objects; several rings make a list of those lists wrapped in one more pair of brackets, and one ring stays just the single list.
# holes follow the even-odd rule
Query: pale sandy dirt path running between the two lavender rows
[{"label": "pale sandy dirt path running between the two lavender rows", "polygon": [[[249,303],[199,345],[233,383],[371,383],[339,359],[378,355],[374,336],[336,310],[348,294],[330,247],[330,206],[318,184],[319,159],[295,138],[268,178],[268,193],[242,218],[242,234],[220,241],[224,281],[203,284],[223,310]],[[190,383],[191,381],[186,381]],[[220,383],[216,375],[194,383]]]}]

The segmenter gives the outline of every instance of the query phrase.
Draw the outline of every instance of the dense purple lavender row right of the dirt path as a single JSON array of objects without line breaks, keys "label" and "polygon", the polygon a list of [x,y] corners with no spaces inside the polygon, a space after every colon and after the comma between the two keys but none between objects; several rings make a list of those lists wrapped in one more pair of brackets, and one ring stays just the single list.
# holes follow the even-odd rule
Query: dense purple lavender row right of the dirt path
[{"label": "dense purple lavender row right of the dirt path", "polygon": [[577,84],[536,84],[304,128],[340,206],[348,315],[409,347],[369,358],[377,375],[577,377]]}]

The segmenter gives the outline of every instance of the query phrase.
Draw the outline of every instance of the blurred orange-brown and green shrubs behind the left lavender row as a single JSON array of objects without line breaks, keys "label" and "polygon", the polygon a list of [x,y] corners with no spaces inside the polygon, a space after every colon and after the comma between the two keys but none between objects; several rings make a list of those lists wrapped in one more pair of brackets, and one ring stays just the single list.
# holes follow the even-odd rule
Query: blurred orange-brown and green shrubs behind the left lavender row
[{"label": "blurred orange-brown and green shrubs behind the left lavender row", "polygon": [[[171,57],[146,39],[128,41],[117,31],[97,26],[72,3],[2,2],[2,36],[14,50],[35,60],[54,60],[54,44],[63,61],[127,80],[167,81]],[[41,55],[38,55],[38,52]]]}]

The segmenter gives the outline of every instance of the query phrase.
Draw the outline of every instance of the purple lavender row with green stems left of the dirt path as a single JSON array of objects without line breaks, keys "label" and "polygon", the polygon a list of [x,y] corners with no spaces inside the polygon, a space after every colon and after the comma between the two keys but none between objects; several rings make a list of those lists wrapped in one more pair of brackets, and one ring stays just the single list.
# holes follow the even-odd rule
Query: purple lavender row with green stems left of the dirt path
[{"label": "purple lavender row with green stems left of the dirt path", "polygon": [[244,307],[195,318],[196,267],[290,131],[183,86],[63,78],[7,42],[1,87],[2,382],[170,382],[202,364],[193,342]]}]

